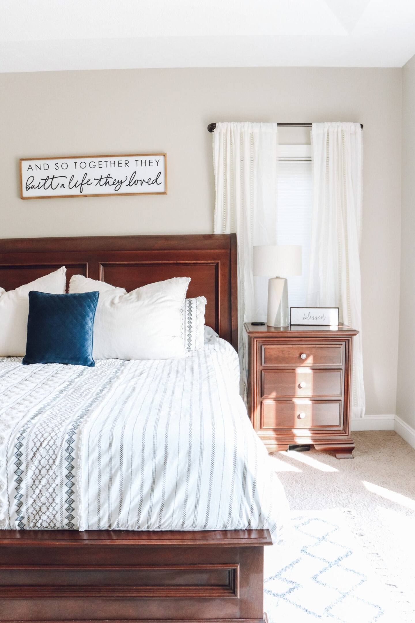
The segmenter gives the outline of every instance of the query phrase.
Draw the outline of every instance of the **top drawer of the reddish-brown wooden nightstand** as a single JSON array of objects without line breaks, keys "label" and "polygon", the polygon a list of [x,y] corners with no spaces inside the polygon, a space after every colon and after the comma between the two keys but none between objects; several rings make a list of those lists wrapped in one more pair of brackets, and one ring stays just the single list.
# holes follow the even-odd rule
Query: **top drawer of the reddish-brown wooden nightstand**
[{"label": "top drawer of the reddish-brown wooden nightstand", "polygon": [[[342,344],[267,345],[262,347],[264,366],[342,366]],[[305,355],[305,356],[304,356]]]}]

